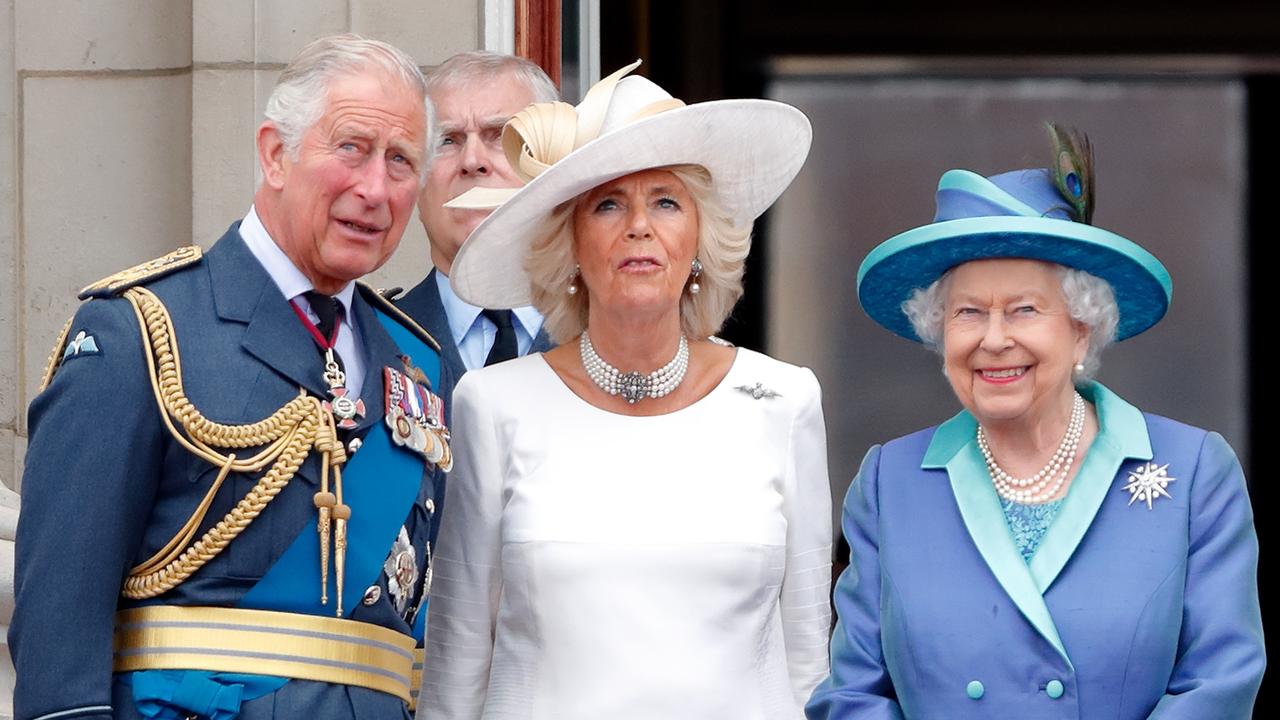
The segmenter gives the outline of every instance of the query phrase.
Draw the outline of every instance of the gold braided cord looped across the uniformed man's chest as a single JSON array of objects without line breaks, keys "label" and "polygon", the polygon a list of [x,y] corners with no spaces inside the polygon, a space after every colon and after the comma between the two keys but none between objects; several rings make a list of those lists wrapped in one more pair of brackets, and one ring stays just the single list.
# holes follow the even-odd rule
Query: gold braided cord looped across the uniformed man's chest
[{"label": "gold braided cord looped across the uniformed man's chest", "polygon": [[[293,479],[311,448],[321,452],[325,469],[337,468],[347,456],[338,442],[333,416],[324,410],[319,398],[307,396],[305,391],[257,423],[230,425],[205,418],[183,391],[182,361],[168,309],[155,293],[143,287],[129,288],[124,297],[133,305],[138,318],[147,350],[143,356],[151,389],[165,427],[179,445],[219,468],[218,478],[183,528],[159,552],[129,571],[122,594],[131,600],[145,600],[173,589],[218,556]],[[259,446],[265,447],[247,459],[216,450]],[[270,469],[236,507],[200,539],[188,544],[227,475],[255,473],[268,465]]]}]

